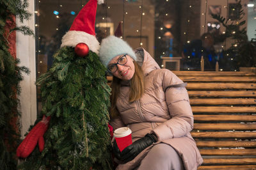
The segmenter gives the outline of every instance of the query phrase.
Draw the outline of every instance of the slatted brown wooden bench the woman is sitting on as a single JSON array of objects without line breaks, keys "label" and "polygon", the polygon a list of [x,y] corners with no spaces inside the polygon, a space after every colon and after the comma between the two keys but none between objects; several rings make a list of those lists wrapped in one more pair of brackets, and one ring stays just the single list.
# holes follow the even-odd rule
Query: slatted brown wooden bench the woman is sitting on
[{"label": "slatted brown wooden bench the woman is sitting on", "polygon": [[188,82],[191,135],[204,158],[198,169],[256,169],[256,74],[173,73]]}]

